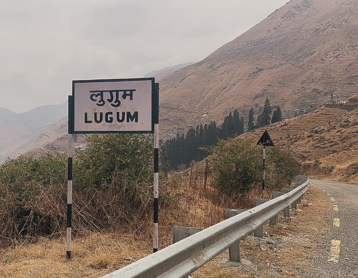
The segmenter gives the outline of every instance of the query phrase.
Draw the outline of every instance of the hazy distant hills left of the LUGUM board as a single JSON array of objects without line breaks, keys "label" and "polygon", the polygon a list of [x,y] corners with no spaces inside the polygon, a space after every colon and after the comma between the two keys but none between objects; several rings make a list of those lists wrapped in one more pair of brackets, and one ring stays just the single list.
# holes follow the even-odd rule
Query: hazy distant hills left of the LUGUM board
[{"label": "hazy distant hills left of the LUGUM board", "polygon": [[[67,102],[10,114],[0,120],[0,162],[47,144],[67,132]],[[59,122],[60,121],[60,122]],[[44,133],[46,135],[44,135]]]}]

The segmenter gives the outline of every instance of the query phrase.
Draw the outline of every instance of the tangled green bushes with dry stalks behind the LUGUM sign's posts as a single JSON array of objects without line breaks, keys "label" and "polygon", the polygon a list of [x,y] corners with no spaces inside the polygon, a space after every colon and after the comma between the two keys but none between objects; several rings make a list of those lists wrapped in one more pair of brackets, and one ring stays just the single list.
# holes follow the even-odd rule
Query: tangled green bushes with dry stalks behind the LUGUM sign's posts
[{"label": "tangled green bushes with dry stalks behind the LUGUM sign's posts", "polygon": [[[153,136],[92,135],[73,157],[75,229],[115,228],[150,214]],[[165,174],[160,171],[159,180]],[[161,200],[168,200],[160,191]],[[67,153],[7,159],[0,165],[0,242],[66,226]],[[118,225],[120,226],[120,225]]]}]

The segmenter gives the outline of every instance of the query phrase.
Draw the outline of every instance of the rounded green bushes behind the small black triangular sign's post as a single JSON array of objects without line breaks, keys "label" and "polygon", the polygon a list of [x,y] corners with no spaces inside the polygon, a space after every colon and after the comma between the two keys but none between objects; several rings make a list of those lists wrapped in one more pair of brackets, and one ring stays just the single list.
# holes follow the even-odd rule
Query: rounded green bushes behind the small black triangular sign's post
[{"label": "rounded green bushes behind the small black triangular sign's post", "polygon": [[[240,138],[221,140],[209,149],[209,165],[214,183],[222,192],[245,193],[260,186],[262,181],[262,147]],[[266,148],[266,178],[268,190],[289,183],[297,174],[297,162],[279,148]]]}]

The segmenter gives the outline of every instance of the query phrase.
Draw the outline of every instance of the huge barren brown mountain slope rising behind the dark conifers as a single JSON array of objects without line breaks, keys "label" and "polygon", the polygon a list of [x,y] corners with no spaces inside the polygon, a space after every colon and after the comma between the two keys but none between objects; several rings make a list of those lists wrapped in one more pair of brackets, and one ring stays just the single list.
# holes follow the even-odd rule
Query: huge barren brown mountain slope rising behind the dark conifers
[{"label": "huge barren brown mountain slope rising behind the dark conifers", "polygon": [[[269,97],[284,117],[357,93],[358,1],[292,0],[203,61],[160,81],[161,130],[242,114]],[[258,109],[256,109],[256,113]],[[173,132],[171,132],[173,133]]]}]

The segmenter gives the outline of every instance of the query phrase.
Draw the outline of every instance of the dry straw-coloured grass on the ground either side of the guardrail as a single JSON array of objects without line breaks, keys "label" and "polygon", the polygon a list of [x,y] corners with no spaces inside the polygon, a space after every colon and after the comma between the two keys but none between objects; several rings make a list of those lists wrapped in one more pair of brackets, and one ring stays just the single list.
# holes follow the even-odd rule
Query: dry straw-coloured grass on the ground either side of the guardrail
[{"label": "dry straw-coloured grass on the ground either side of the guardrail", "polygon": [[[170,244],[173,225],[205,227],[221,221],[224,217],[223,211],[227,203],[223,202],[219,195],[213,198],[215,197],[211,195],[214,194],[213,192],[187,188],[185,183],[184,179],[182,186],[176,187],[176,193],[182,193],[179,197],[180,201],[178,200],[182,203],[182,207],[160,211],[161,248]],[[311,188],[310,191],[309,202],[313,205],[304,207],[303,212],[297,213],[297,220],[281,222],[274,227],[265,227],[264,231],[267,231],[274,240],[280,241],[282,246],[275,246],[276,249],[271,250],[270,246],[259,245],[256,241],[242,241],[242,257],[254,263],[257,271],[218,264],[223,258],[228,258],[228,252],[225,251],[195,272],[193,277],[243,278],[254,277],[253,275],[277,278],[299,277],[296,270],[309,265],[309,252],[313,251],[309,239],[314,240],[316,232],[312,228],[321,230],[324,227],[322,211],[325,210],[325,201],[320,196],[322,192],[316,188]],[[192,199],[188,200],[189,196]],[[181,213],[182,210],[185,213]],[[129,227],[123,227],[123,231],[117,232],[82,231],[73,240],[71,262],[65,259],[64,236],[40,238],[36,244],[0,249],[0,277],[101,277],[151,253],[151,225],[148,219],[130,232]],[[297,236],[303,238],[303,235],[308,238],[308,242],[297,240]],[[5,263],[6,255],[9,259]]]}]

